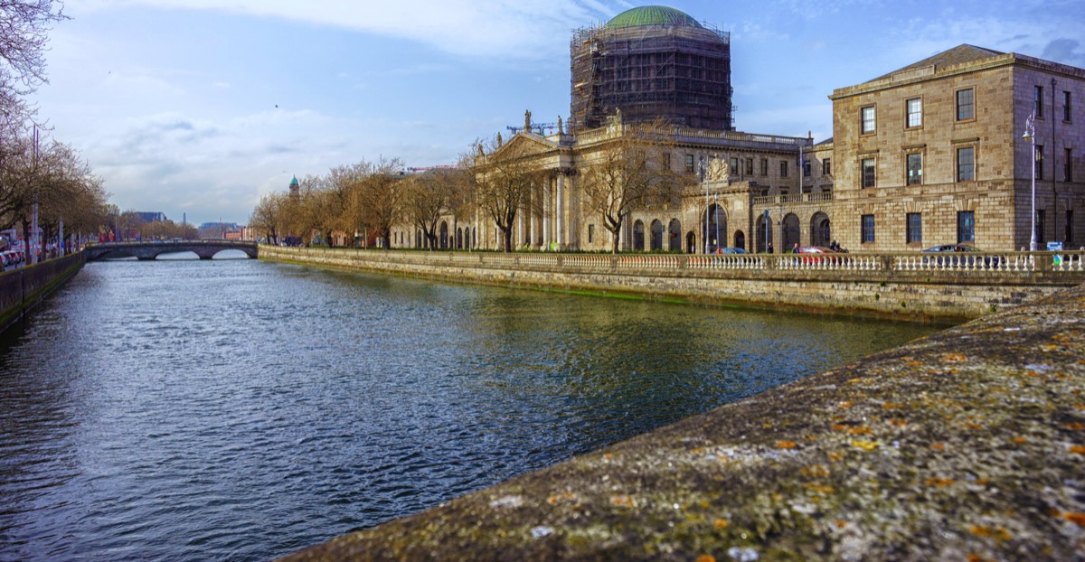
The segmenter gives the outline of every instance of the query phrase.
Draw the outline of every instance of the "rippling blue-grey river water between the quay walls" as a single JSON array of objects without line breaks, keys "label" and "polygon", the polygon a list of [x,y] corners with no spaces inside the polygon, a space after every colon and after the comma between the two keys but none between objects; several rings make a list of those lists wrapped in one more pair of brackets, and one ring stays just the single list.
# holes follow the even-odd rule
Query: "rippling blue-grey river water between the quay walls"
[{"label": "rippling blue-grey river water between the quay walls", "polygon": [[92,263],[0,340],[0,560],[266,560],[931,331]]}]

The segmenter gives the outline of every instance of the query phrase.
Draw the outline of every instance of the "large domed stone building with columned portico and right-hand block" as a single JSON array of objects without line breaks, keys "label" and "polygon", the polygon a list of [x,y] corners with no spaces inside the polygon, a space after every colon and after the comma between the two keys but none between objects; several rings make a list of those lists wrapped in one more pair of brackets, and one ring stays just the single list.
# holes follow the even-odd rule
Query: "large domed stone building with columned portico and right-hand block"
[{"label": "large domed stone building with columned portico and right-hand block", "polygon": [[[1033,204],[1041,247],[1047,241],[1085,242],[1080,210],[1085,206],[1085,112],[1074,105],[1085,97],[1085,69],[960,46],[834,90],[833,138],[814,143],[808,136],[731,130],[729,38],[675,10],[649,7],[621,14],[591,34],[574,35],[575,126],[570,131],[559,127],[541,136],[525,126],[500,149],[531,154],[548,171],[519,214],[518,248],[610,248],[601,217],[587,210],[578,184],[583,167],[628,124],[644,120],[644,107],[659,108],[662,102],[627,108],[620,97],[586,99],[600,90],[577,86],[585,72],[578,56],[591,52],[579,52],[577,43],[608,36],[664,42],[660,38],[681,37],[687,52],[723,53],[699,64],[719,71],[713,78],[719,84],[726,76],[726,88],[711,107],[703,97],[667,98],[673,82],[658,84],[656,100],[667,100],[661,114],[676,124],[671,165],[689,175],[693,187],[671,204],[634,209],[624,222],[622,250],[700,253],[737,246],[760,252],[769,244],[782,250],[837,240],[852,251],[915,251],[953,242],[1009,251],[1030,245]],[[662,44],[658,41],[650,44]],[[649,67],[644,61],[660,62],[653,56],[630,64]],[[693,61],[690,56],[684,60]],[[617,76],[615,65],[621,67],[613,61],[602,67]],[[646,89],[656,84],[629,81]],[[640,103],[646,93],[631,100]],[[684,100],[690,104],[682,105]],[[612,110],[601,122],[600,106]],[[1034,133],[1022,139],[1031,114]],[[717,165],[717,174],[706,174],[717,158],[727,173],[718,174]],[[502,247],[500,232],[481,214],[448,216],[442,230],[443,246]],[[394,245],[416,246],[421,240],[410,227],[393,232]]]}]

